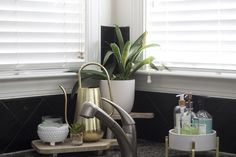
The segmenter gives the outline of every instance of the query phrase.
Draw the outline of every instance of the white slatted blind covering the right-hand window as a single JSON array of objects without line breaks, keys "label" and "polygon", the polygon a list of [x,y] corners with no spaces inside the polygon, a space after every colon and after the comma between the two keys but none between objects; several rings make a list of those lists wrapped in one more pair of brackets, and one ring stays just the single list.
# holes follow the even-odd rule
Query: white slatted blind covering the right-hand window
[{"label": "white slatted blind covering the right-hand window", "polygon": [[147,55],[170,68],[236,72],[236,0],[146,0]]}]

